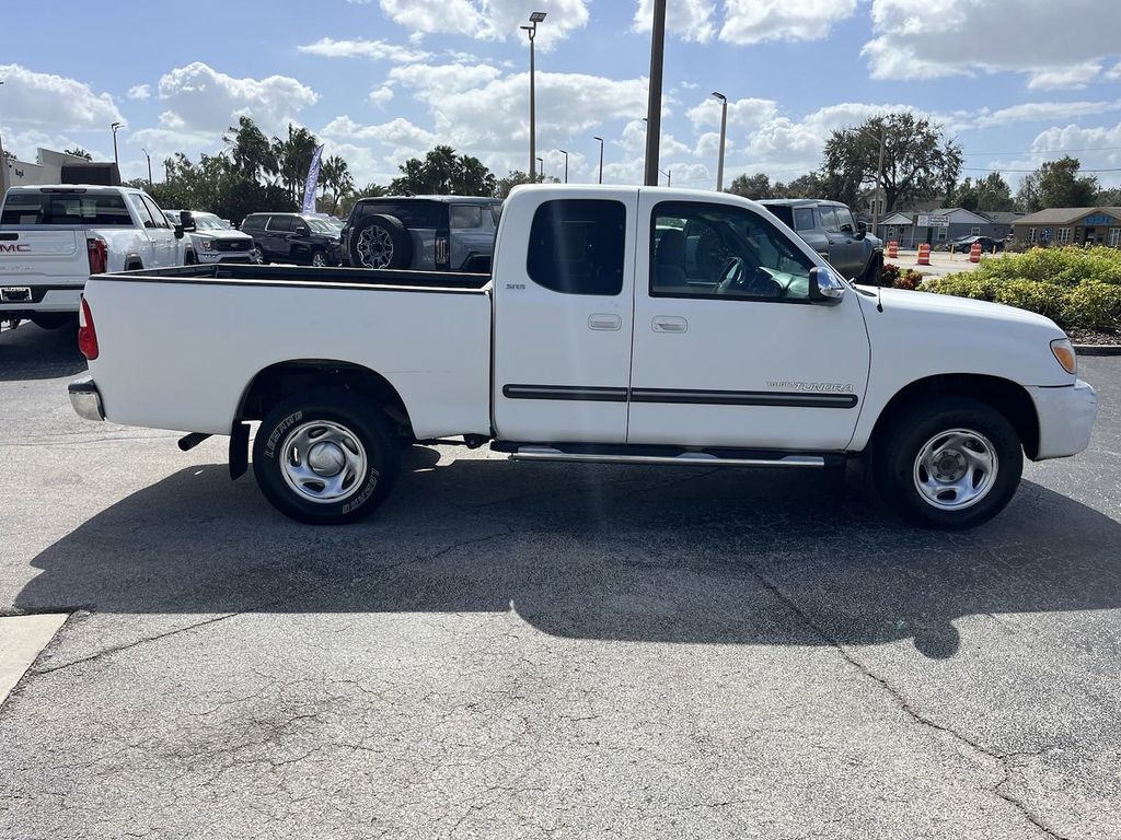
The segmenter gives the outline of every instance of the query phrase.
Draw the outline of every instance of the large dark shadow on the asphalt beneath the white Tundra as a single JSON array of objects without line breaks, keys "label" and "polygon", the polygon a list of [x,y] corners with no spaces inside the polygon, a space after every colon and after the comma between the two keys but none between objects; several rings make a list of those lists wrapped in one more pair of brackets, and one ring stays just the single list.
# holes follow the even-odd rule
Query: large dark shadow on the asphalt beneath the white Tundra
[{"label": "large dark shadow on the asphalt beneath the white Tundra", "polygon": [[908,529],[819,473],[437,464],[349,528],[191,467],[43,551],[24,610],[493,612],[568,638],[958,648],[981,614],[1121,607],[1121,524],[1026,482],[967,533]]}]

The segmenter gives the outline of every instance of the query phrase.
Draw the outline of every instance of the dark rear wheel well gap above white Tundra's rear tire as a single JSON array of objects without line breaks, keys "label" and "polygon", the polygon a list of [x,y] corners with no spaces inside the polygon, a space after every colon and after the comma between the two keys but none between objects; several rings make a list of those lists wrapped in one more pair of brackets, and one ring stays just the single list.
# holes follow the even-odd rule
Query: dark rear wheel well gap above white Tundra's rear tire
[{"label": "dark rear wheel well gap above white Tundra's rear tire", "polygon": [[386,412],[399,435],[413,438],[405,401],[389,381],[362,365],[300,358],[270,365],[258,373],[242,396],[238,420],[260,420],[277,403],[303,391],[333,389],[363,394]]}]

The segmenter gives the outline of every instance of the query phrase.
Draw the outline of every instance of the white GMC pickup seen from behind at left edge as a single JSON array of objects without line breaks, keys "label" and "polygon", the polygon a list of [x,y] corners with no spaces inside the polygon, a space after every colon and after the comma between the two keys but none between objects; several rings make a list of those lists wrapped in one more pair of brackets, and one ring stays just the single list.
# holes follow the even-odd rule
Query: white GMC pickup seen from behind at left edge
[{"label": "white GMC pickup seen from behind at left edge", "polygon": [[182,237],[139,189],[12,187],[0,208],[0,320],[73,323],[91,274],[182,264]]}]

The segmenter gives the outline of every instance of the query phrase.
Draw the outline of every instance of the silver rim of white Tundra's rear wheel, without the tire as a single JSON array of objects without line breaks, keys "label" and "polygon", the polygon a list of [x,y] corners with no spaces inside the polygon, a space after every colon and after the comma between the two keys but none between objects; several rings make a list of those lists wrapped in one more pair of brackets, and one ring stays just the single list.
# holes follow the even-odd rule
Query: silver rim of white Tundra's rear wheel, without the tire
[{"label": "silver rim of white Tundra's rear wheel, without the tire", "polygon": [[365,447],[345,426],[313,420],[293,429],[280,448],[285,483],[316,504],[353,496],[365,476]]}]

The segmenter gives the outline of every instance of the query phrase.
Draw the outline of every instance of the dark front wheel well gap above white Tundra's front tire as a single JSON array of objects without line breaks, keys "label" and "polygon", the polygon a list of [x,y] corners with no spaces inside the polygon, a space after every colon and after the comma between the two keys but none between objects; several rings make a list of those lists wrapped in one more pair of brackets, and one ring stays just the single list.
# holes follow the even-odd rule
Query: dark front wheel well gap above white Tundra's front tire
[{"label": "dark front wheel well gap above white Tundra's front tire", "polygon": [[911,382],[892,396],[880,412],[872,436],[878,435],[895,414],[908,405],[930,396],[949,395],[969,396],[994,408],[1012,423],[1028,457],[1036,457],[1039,451],[1039,417],[1035,403],[1022,385],[999,376],[947,373]]}]

